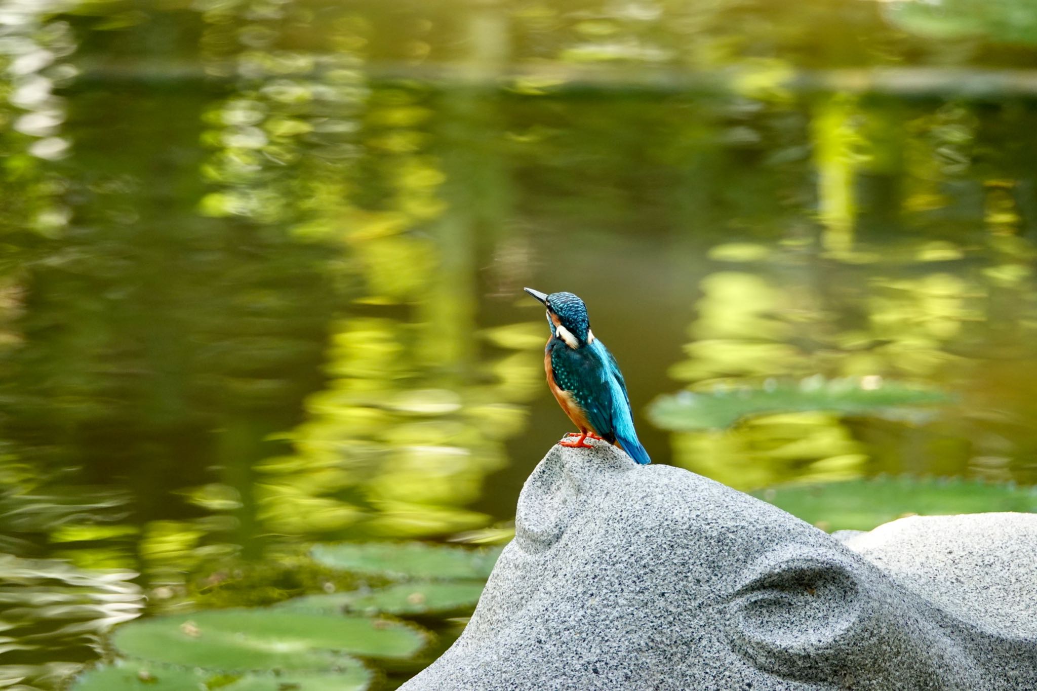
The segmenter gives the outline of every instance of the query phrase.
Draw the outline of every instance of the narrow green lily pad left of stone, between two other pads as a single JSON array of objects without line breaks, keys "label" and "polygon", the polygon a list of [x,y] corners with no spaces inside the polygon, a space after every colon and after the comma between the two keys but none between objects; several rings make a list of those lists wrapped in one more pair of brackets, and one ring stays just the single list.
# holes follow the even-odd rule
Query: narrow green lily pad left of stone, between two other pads
[{"label": "narrow green lily pad left of stone, between two other pads", "polygon": [[475,607],[483,587],[483,581],[412,581],[373,591],[295,598],[278,607],[311,612],[347,610],[402,615],[442,613]]}]

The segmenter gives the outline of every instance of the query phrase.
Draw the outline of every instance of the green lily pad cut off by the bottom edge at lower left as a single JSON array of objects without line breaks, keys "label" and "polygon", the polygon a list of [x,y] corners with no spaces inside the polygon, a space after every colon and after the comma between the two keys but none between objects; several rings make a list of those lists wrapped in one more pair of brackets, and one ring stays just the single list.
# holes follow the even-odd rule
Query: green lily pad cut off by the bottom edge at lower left
[{"label": "green lily pad cut off by the bottom edge at lower left", "polygon": [[81,675],[71,691],[364,691],[371,672],[354,665],[341,672],[226,675],[202,669],[120,660]]}]

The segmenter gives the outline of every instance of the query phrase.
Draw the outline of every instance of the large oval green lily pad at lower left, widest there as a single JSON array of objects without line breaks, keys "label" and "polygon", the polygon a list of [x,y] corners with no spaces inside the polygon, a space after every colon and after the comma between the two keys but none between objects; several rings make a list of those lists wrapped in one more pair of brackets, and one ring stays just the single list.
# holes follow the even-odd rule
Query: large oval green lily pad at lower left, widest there
[{"label": "large oval green lily pad at lower left, widest there", "polygon": [[133,622],[115,649],[132,658],[226,671],[331,670],[360,663],[344,654],[408,658],[422,647],[417,627],[366,616],[282,609],[223,609]]}]

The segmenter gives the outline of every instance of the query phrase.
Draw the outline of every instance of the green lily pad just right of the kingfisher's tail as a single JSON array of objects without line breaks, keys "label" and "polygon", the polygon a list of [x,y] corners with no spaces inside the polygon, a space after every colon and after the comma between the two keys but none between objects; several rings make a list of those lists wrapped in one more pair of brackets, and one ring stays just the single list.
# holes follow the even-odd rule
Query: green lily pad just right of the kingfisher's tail
[{"label": "green lily pad just right of the kingfisher's tail", "polygon": [[779,412],[824,411],[847,415],[903,416],[908,408],[948,403],[943,392],[880,379],[822,379],[776,382],[761,388],[681,392],[656,399],[648,415],[675,431],[726,429],[742,418]]}]

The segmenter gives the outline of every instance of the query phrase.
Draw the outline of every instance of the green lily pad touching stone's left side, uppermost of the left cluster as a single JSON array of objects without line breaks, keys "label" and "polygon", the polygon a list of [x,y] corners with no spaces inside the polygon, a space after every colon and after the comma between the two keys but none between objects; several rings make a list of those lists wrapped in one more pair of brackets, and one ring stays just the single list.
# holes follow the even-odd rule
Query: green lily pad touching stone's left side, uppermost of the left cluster
[{"label": "green lily pad touching stone's left side, uppermost of the left cluster", "polygon": [[391,578],[485,579],[503,547],[471,549],[422,542],[315,545],[314,559],[334,569]]}]

